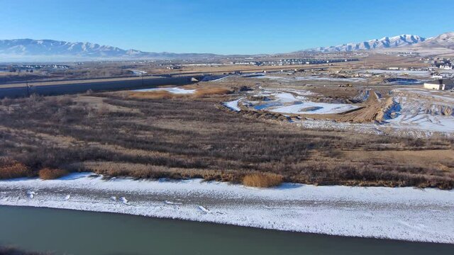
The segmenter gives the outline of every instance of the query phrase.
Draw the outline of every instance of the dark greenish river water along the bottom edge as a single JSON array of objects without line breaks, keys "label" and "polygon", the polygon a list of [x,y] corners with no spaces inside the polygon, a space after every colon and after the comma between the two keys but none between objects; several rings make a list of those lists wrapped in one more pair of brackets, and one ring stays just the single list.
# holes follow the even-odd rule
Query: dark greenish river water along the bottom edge
[{"label": "dark greenish river water along the bottom edge", "polygon": [[454,254],[454,245],[0,206],[0,244],[56,254]]}]

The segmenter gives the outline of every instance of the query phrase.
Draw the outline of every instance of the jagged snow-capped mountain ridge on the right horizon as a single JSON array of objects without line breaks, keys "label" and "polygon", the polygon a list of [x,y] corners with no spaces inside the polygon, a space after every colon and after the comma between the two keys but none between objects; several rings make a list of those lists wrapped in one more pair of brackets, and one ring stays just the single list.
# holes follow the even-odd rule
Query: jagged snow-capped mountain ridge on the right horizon
[{"label": "jagged snow-capped mountain ridge on the right horizon", "polygon": [[418,35],[397,35],[393,37],[385,37],[382,39],[367,40],[365,42],[350,42],[344,45],[317,47],[304,51],[316,52],[351,52],[355,50],[375,50],[392,47],[410,46],[419,42],[425,41]]}]

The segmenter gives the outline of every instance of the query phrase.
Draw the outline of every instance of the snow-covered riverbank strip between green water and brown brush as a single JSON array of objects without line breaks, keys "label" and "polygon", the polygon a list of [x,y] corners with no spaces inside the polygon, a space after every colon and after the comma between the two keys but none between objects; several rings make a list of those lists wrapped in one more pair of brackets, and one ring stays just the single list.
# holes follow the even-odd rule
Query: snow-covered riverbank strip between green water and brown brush
[{"label": "snow-covered riverbank strip between green water and brown brush", "polygon": [[355,237],[454,244],[454,191],[133,181],[72,174],[0,181],[0,205],[26,205]]}]

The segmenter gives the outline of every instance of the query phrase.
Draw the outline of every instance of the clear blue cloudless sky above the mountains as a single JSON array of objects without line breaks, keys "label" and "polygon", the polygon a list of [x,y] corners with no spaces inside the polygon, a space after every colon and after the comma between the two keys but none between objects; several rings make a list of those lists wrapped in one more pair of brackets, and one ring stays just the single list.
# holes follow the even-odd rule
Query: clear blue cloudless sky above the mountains
[{"label": "clear blue cloudless sky above the mountains", "polygon": [[149,52],[291,52],[454,30],[454,0],[0,0],[0,39]]}]

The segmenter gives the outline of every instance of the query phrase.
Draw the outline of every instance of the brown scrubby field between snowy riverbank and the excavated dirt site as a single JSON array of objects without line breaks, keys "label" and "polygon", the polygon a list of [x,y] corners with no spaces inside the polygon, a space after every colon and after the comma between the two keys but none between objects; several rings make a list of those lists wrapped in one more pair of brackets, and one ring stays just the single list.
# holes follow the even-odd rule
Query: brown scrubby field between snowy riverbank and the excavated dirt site
[{"label": "brown scrubby field between snowy riverbank and the excavated dirt site", "polygon": [[236,95],[219,87],[225,90],[199,86],[199,96],[172,98],[117,92],[4,99],[0,157],[35,176],[50,168],[241,183],[271,173],[319,185],[454,187],[453,140],[303,130],[283,125],[285,118],[228,111],[221,102]]}]

